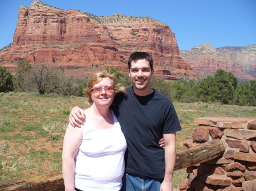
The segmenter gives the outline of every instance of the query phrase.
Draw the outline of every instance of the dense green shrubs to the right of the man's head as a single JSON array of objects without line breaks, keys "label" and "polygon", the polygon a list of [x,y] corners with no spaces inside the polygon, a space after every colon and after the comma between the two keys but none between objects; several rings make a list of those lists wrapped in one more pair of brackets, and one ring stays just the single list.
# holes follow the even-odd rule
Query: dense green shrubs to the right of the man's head
[{"label": "dense green shrubs to the right of the man's head", "polygon": [[201,80],[164,81],[152,79],[152,87],[170,97],[172,101],[196,101],[256,106],[256,80],[238,84],[233,73],[217,70],[214,77]]}]

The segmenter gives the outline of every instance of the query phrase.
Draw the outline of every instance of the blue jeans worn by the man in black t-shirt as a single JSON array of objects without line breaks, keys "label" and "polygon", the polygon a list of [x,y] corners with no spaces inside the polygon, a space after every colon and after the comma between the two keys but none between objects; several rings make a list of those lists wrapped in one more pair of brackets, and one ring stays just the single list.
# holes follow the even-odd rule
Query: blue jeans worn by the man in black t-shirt
[{"label": "blue jeans worn by the man in black t-shirt", "polygon": [[126,173],[121,191],[159,191],[163,179],[147,179]]}]

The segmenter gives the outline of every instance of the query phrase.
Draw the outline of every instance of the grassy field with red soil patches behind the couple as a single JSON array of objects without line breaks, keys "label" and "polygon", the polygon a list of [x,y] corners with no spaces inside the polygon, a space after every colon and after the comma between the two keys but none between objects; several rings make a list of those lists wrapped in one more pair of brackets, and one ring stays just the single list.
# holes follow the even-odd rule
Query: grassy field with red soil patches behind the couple
[{"label": "grassy field with red soil patches behind the couple", "polygon": [[[0,94],[0,181],[61,172],[61,150],[70,109],[84,106],[85,97]],[[192,138],[198,117],[255,117],[256,107],[212,103],[174,103],[183,130],[177,133],[177,150]],[[175,172],[174,186],[187,177]]]}]

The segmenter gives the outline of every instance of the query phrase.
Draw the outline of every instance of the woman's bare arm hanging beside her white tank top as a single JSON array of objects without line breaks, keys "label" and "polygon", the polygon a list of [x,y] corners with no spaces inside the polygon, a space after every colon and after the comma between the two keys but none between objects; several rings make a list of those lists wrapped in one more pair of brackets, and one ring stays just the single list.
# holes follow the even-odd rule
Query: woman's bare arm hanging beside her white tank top
[{"label": "woman's bare arm hanging beside her white tank top", "polygon": [[68,124],[63,142],[63,179],[65,191],[75,191],[75,156],[82,141],[82,129]]}]

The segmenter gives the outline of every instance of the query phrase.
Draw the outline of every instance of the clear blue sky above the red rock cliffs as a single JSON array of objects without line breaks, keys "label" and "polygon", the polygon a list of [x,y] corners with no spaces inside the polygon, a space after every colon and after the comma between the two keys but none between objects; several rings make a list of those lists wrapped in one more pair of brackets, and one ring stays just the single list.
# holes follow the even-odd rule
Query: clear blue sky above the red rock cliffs
[{"label": "clear blue sky above the red rock cliffs", "polygon": [[[20,5],[34,0],[0,0],[0,48],[13,43]],[[255,0],[42,0],[63,10],[97,16],[150,16],[168,24],[180,50],[203,43],[213,48],[256,44]]]}]

